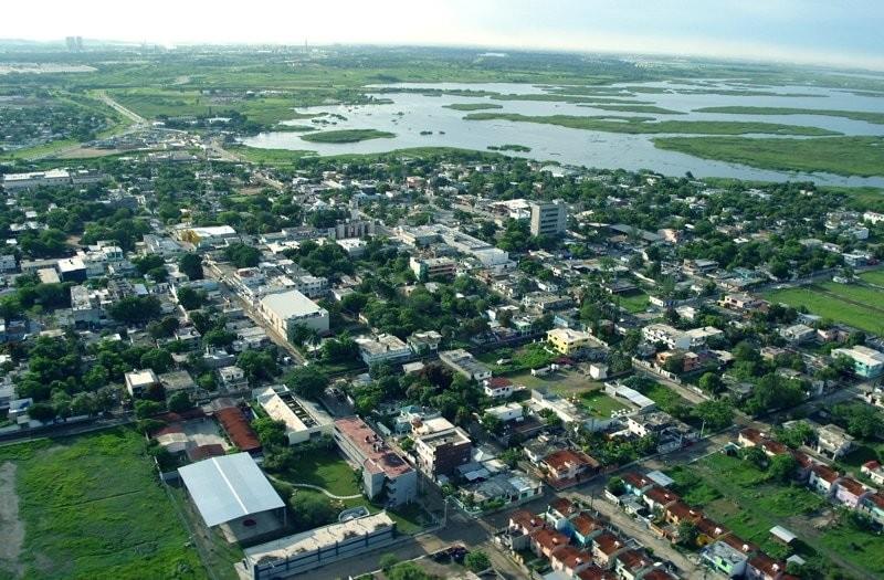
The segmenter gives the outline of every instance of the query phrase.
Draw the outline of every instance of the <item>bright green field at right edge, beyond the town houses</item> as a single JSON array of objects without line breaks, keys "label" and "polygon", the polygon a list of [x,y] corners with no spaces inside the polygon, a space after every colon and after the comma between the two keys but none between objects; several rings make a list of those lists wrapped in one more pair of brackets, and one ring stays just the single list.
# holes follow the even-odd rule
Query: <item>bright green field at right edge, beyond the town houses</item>
[{"label": "bright green field at right edge, beyond the town houses", "polygon": [[884,334],[884,291],[834,283],[767,293],[768,300],[804,307],[812,314],[874,334]]}]

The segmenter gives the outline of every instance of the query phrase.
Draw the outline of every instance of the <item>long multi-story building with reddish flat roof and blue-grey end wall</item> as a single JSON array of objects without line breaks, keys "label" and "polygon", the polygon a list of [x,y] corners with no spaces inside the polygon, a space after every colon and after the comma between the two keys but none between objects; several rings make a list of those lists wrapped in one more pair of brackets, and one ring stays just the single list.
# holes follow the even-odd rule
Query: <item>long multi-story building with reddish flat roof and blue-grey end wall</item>
[{"label": "long multi-story building with reddish flat roof and blue-grey end wall", "polygon": [[369,499],[381,492],[391,505],[407,504],[418,495],[418,472],[387,446],[383,440],[358,416],[335,421],[335,441],[347,458],[362,473],[362,487]]}]

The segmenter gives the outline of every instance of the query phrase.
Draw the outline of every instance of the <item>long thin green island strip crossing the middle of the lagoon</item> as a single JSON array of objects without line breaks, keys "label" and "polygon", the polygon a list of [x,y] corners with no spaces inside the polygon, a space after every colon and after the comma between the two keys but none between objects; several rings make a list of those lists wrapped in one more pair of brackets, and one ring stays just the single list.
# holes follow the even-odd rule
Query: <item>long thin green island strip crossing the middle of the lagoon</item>
[{"label": "long thin green island strip crossing the middle of the lagoon", "polygon": [[[512,120],[515,123],[539,123],[558,125],[571,129],[598,130],[607,133],[660,134],[684,133],[706,135],[744,135],[749,133],[767,133],[778,135],[838,135],[835,131],[818,127],[779,125],[774,123],[727,122],[727,120],[649,120],[648,117],[622,117],[618,120],[600,117],[581,117],[573,115],[530,116],[517,113],[470,113],[466,120]],[[638,119],[638,120],[636,120]]]}]

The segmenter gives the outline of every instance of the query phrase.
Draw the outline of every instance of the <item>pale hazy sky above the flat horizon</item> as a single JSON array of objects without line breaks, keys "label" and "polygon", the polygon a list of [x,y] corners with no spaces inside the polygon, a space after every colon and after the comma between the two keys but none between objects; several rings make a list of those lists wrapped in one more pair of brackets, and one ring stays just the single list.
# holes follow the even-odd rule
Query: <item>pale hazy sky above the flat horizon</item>
[{"label": "pale hazy sky above the flat horizon", "polygon": [[3,0],[6,38],[460,44],[884,70],[884,0]]}]

